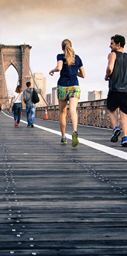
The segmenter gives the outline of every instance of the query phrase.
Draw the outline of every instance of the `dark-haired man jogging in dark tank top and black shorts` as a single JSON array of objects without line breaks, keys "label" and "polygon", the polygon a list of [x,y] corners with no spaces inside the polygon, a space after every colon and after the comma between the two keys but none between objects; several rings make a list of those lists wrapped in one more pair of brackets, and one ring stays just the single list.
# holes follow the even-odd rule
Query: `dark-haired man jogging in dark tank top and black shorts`
[{"label": "dark-haired man jogging in dark tank top and black shorts", "polygon": [[105,80],[109,81],[107,109],[114,128],[111,141],[117,142],[121,133],[117,118],[117,108],[119,108],[123,130],[121,146],[127,147],[127,53],[123,50],[124,45],[124,36],[111,37],[111,53],[108,55]]}]

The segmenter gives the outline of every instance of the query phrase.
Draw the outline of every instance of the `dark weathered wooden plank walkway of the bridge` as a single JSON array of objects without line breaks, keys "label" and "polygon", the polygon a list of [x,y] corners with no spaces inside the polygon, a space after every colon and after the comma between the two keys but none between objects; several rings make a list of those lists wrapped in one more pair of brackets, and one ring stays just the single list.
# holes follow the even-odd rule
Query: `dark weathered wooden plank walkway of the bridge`
[{"label": "dark weathered wooden plank walkway of the bridge", "polygon": [[[13,123],[0,112],[0,256],[127,256],[127,160]],[[127,151],[110,130],[78,131]]]}]

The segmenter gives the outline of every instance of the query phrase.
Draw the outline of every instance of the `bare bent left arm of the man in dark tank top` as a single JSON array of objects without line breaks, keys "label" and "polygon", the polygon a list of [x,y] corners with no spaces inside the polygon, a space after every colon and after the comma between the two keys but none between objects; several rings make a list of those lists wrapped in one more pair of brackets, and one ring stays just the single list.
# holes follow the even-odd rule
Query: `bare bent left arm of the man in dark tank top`
[{"label": "bare bent left arm of the man in dark tank top", "polygon": [[109,76],[111,75],[113,69],[114,69],[114,62],[116,60],[116,54],[113,53],[109,53],[108,55],[108,66],[106,69],[106,76],[105,76],[105,80],[108,81],[109,80]]}]

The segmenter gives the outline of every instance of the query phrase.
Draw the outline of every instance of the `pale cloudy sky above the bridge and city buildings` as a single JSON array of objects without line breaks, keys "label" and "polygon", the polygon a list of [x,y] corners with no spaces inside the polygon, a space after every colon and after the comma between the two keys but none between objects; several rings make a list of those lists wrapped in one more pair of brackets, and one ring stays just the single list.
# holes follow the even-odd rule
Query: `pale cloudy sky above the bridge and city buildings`
[{"label": "pale cloudy sky above the bridge and city buildings", "polygon": [[[47,93],[57,85],[56,66],[62,53],[61,42],[68,38],[85,67],[85,79],[79,78],[80,101],[88,91],[103,90],[110,36],[124,35],[127,40],[127,0],[0,0],[0,43],[30,44],[30,66],[33,72],[47,77]],[[127,45],[125,45],[127,51]],[[6,71],[7,84],[17,84],[15,69]]]}]

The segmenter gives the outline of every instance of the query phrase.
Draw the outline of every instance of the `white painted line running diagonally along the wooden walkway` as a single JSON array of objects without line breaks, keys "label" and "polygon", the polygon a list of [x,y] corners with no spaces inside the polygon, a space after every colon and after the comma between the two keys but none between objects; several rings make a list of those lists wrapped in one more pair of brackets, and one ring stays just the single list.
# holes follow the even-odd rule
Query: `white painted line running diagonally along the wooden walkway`
[{"label": "white painted line running diagonally along the wooden walkway", "polygon": [[[3,111],[1,111],[4,115],[7,115],[5,114]],[[10,118],[13,118],[12,116],[9,116],[7,115],[8,117]],[[22,123],[24,124],[27,124],[27,122],[23,121],[23,120],[20,120]],[[51,132],[51,133],[55,133],[55,134],[58,134],[59,136],[61,136],[61,132],[58,132],[58,131],[55,131],[55,130],[52,130],[50,128],[46,128],[46,127],[43,127],[43,126],[40,126],[40,125],[37,125],[37,124],[34,124],[35,127],[39,128],[39,129],[42,129],[42,130],[45,130],[47,132]],[[70,140],[72,140],[72,135],[66,133],[65,134],[66,137]],[[116,150],[114,148],[110,148],[108,146],[104,146],[104,145],[101,145],[99,143],[95,143],[93,141],[88,141],[88,140],[85,140],[85,139],[82,139],[79,137],[79,142],[81,144],[84,144],[86,146],[89,146],[89,147],[92,147],[94,149],[97,149],[97,150],[100,150],[102,152],[105,152],[107,154],[111,154],[111,155],[114,155],[114,156],[117,156],[117,157],[120,157],[122,159],[125,159],[127,160],[127,153],[126,152],[123,152],[122,150]]]}]

